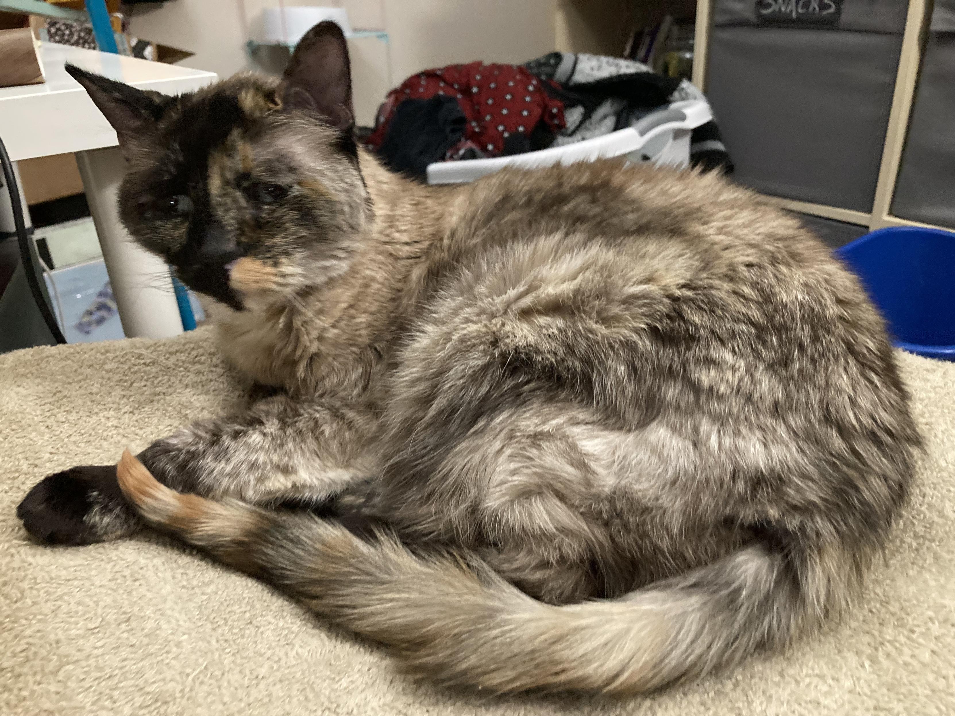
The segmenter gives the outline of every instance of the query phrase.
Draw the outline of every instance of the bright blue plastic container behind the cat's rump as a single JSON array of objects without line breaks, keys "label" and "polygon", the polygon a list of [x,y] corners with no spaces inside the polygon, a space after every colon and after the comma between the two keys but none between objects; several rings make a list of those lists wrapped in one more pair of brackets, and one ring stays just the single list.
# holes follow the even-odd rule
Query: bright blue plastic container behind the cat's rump
[{"label": "bright blue plastic container behind the cat's rump", "polygon": [[955,361],[955,233],[879,229],[836,255],[881,309],[896,346]]}]

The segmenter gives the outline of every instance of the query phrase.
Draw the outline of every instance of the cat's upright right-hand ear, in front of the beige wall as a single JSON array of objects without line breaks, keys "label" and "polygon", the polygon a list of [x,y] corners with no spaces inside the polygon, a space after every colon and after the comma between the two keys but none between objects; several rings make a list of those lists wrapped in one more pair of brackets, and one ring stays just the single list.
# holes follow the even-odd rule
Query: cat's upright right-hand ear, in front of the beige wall
[{"label": "cat's upright right-hand ear, in front of the beige wall", "polygon": [[349,47],[336,23],[320,22],[299,41],[283,75],[281,99],[284,107],[317,112],[343,132],[354,127]]}]

